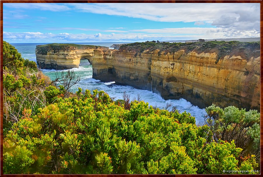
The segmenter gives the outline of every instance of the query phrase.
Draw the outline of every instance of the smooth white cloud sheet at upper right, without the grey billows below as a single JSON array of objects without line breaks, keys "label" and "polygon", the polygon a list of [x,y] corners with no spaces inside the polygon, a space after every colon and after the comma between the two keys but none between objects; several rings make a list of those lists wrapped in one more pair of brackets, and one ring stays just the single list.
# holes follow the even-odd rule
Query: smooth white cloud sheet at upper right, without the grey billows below
[{"label": "smooth white cloud sheet at upper right, without the grey billows below", "polygon": [[243,11],[253,12],[259,19],[259,3],[72,3],[70,5],[84,12],[162,22],[211,21],[222,14],[238,17]]}]

